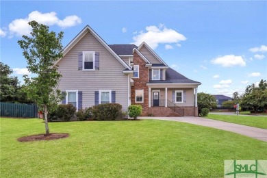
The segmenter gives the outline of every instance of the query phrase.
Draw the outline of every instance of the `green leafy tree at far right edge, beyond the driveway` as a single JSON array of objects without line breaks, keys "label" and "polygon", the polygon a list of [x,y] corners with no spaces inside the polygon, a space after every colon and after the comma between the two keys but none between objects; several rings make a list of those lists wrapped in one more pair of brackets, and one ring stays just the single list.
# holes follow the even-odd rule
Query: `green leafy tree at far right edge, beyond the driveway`
[{"label": "green leafy tree at far right edge, beyond the driveway", "polygon": [[267,109],[267,81],[262,79],[259,86],[251,84],[246,87],[241,100],[242,107],[247,107],[253,112],[266,111]]}]

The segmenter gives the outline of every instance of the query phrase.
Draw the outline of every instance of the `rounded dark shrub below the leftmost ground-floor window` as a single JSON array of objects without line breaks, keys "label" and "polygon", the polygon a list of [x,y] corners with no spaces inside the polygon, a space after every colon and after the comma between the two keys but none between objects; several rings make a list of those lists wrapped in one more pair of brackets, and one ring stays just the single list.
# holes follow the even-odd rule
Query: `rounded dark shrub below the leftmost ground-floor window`
[{"label": "rounded dark shrub below the leftmost ground-floor window", "polygon": [[76,112],[76,107],[72,104],[67,105],[58,105],[58,118],[61,118],[62,120],[68,121],[73,118]]}]

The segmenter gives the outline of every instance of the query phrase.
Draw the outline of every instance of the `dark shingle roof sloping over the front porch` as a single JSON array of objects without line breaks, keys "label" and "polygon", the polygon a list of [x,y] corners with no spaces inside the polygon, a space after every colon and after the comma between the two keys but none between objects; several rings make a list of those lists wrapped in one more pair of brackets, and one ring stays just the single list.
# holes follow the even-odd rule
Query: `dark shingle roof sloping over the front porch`
[{"label": "dark shingle roof sloping over the front porch", "polygon": [[166,80],[151,80],[149,84],[201,84],[199,81],[188,79],[173,68],[166,69]]}]

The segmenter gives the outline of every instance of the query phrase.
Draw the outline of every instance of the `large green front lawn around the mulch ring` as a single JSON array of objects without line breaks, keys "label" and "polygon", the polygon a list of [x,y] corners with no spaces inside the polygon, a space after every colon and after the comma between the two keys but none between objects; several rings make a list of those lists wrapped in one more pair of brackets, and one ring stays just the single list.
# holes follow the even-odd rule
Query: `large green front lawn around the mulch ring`
[{"label": "large green front lawn around the mulch ring", "polygon": [[223,177],[224,160],[267,160],[267,142],[165,120],[49,123],[1,118],[1,177]]}]

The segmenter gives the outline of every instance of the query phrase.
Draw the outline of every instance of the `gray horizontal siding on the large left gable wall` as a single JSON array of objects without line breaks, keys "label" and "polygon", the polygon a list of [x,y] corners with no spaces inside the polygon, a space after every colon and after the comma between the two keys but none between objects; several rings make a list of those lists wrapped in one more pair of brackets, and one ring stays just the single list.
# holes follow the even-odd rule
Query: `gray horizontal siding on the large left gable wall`
[{"label": "gray horizontal siding on the large left gable wall", "polygon": [[[81,51],[99,52],[99,70],[78,71],[78,53]],[[58,62],[62,74],[59,89],[79,90],[83,93],[83,108],[94,105],[94,92],[98,90],[116,91],[116,103],[128,107],[128,77],[123,74],[125,67],[88,32]]]}]

